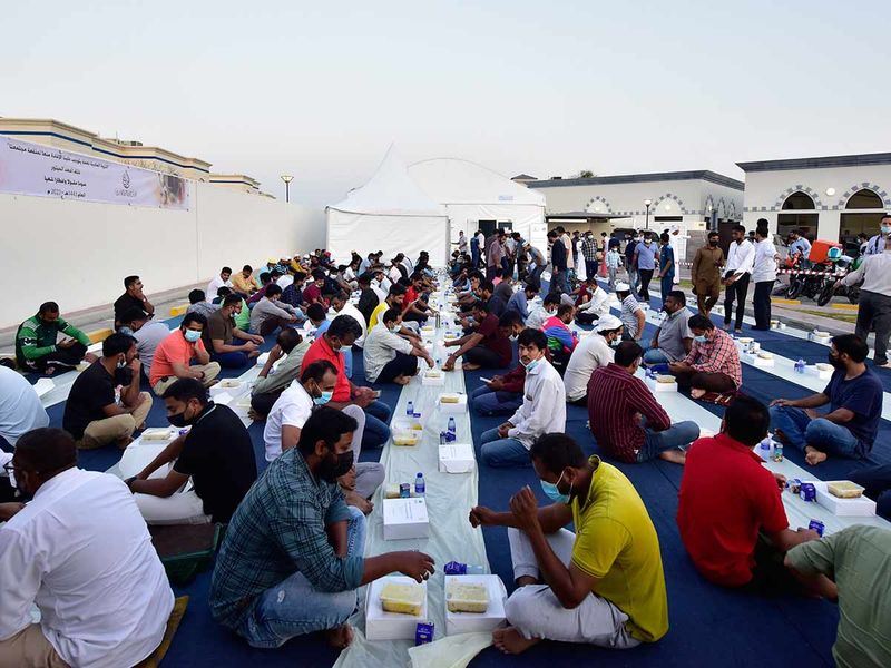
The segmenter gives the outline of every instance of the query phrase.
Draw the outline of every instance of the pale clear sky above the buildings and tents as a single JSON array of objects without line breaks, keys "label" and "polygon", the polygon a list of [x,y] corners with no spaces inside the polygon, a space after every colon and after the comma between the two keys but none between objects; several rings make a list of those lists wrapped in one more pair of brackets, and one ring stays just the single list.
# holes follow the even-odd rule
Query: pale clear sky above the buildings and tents
[{"label": "pale clear sky above the buildings and tents", "polygon": [[[86,9],[89,8],[89,9]],[[330,204],[395,143],[507,176],[891,150],[885,2],[12,2],[0,116]]]}]

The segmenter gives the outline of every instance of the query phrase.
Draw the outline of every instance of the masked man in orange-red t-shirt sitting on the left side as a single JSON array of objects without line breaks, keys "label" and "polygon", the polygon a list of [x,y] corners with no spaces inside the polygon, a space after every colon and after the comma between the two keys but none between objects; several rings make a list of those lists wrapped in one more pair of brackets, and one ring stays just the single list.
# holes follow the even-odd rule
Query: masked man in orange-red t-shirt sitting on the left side
[{"label": "masked man in orange-red t-shirt sitting on the left side", "polygon": [[[202,343],[202,332],[207,326],[198,313],[186,313],[179,327],[155,348],[148,384],[161,396],[176,379],[197,379],[209,387],[219,375],[219,364],[210,362],[210,355]],[[197,364],[192,364],[195,360]]]}]

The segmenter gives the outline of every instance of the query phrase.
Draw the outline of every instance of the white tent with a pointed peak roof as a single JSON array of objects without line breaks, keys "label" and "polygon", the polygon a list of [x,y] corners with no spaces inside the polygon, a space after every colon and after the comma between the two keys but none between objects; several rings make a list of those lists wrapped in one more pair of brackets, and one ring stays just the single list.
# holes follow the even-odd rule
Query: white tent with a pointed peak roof
[{"label": "white tent with a pointed peak roof", "polygon": [[392,146],[369,183],[325,212],[327,249],[336,262],[347,262],[352,250],[362,257],[383,250],[384,262],[396,253],[414,262],[427,250],[434,266],[448,257],[446,207],[418,187]]}]

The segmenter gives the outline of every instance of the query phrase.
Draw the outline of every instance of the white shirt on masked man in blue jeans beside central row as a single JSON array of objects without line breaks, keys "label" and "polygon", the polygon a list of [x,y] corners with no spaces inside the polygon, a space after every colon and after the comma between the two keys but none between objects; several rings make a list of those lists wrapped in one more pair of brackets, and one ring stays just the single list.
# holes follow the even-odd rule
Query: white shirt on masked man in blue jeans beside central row
[{"label": "white shirt on masked man in blue jeans beside central row", "polygon": [[541,434],[566,431],[566,391],[564,380],[544,357],[526,372],[522,405],[508,422],[513,424],[508,436],[517,439],[527,450]]}]

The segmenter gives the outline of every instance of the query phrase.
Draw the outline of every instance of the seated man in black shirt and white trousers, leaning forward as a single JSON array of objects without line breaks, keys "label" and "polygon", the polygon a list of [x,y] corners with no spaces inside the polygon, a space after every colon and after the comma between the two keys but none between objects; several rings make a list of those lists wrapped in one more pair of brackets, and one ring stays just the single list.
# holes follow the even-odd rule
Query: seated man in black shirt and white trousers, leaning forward
[{"label": "seated man in black shirt and white trousers, leaning forward", "polygon": [[[149,524],[227,523],[257,479],[247,430],[232,409],[208,401],[194,379],[167,387],[164,403],[170,424],[192,429],[125,481],[139,512]],[[167,475],[149,479],[167,464]]]}]

